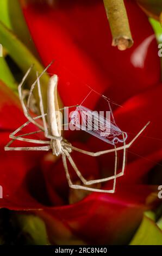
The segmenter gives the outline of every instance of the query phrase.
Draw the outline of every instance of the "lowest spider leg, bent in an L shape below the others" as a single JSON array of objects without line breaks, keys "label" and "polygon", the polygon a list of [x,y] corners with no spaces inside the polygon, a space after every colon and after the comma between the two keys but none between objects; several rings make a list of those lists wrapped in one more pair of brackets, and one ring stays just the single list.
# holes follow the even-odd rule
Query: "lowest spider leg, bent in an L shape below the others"
[{"label": "lowest spider leg, bent in an L shape below the others", "polygon": [[113,190],[99,190],[98,188],[91,188],[91,187],[85,187],[85,186],[82,186],[82,185],[72,184],[70,174],[68,172],[66,155],[64,153],[62,154],[62,159],[63,159],[63,164],[64,164],[64,169],[65,169],[65,173],[66,173],[67,182],[68,182],[68,185],[71,188],[78,189],[78,190],[92,191],[92,192],[104,192],[104,193],[114,193],[115,192],[116,179],[115,179],[115,182],[114,182],[114,185],[113,185]]}]

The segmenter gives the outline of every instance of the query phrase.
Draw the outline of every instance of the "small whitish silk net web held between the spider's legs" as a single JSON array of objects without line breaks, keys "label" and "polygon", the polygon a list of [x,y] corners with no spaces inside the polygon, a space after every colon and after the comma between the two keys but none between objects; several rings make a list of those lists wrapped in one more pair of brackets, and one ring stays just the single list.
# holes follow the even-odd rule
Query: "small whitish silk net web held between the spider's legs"
[{"label": "small whitish silk net web held between the spider's legs", "polygon": [[[91,109],[84,106],[85,100],[88,100],[88,97],[90,97],[92,92],[98,94],[108,102],[108,108],[105,110],[105,113],[103,113],[103,111],[92,111]],[[123,132],[116,125],[113,110],[110,106],[110,100],[106,96],[101,95],[92,89],[82,101],[82,103],[76,107],[76,110],[71,115],[71,123],[79,130],[86,131],[90,133],[90,135],[95,136],[98,139],[101,139],[102,141],[111,145],[115,145],[118,142],[123,143],[128,137],[127,133]]]}]

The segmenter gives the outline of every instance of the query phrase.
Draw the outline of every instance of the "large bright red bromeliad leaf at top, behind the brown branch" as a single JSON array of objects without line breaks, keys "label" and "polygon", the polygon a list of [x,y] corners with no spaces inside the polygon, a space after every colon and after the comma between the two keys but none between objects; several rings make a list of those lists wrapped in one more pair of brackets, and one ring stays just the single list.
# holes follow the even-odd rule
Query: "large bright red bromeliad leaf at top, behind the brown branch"
[{"label": "large bright red bromeliad leaf at top, behind the brown branch", "polygon": [[[124,52],[111,47],[102,1],[78,0],[67,4],[62,0],[54,7],[26,1],[23,5],[43,63],[47,65],[52,59],[59,63],[50,72],[61,77],[59,92],[65,105],[71,105],[74,97],[77,103],[83,100],[85,92],[84,88],[80,90],[80,81],[101,93],[108,88],[110,99],[118,103],[159,82],[160,60],[153,30],[138,5],[125,2],[134,46]],[[66,82],[71,73],[69,87]],[[94,102],[89,105],[94,106]]]}]

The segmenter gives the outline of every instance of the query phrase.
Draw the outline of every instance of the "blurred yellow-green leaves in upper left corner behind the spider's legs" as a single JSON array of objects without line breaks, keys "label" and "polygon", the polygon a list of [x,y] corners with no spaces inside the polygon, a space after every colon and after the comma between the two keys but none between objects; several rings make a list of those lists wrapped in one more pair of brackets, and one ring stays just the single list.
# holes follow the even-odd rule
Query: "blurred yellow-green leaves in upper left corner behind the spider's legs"
[{"label": "blurred yellow-green leaves in upper left corner behind the spider's legs", "polygon": [[[14,61],[11,64],[14,65],[15,63],[20,68],[20,71],[22,71],[21,78],[29,67],[34,64],[34,68],[27,80],[30,88],[36,79],[36,71],[42,72],[43,66],[40,64],[38,58],[35,57],[37,54],[18,0],[0,0],[0,39],[4,50]],[[4,54],[0,60],[0,80],[17,92],[17,83],[20,81],[16,81],[15,74],[12,74],[10,66],[8,66],[9,63],[6,60],[7,55]],[[48,79],[47,74],[41,78],[41,84],[43,85],[42,94],[46,94]],[[45,101],[44,104],[46,106]]]}]

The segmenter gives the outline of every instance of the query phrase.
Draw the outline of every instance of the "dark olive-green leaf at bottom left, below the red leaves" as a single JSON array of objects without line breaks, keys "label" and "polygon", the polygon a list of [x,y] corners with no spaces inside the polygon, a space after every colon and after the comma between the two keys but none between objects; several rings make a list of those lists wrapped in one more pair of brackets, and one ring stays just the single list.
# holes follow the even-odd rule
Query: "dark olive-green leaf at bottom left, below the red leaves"
[{"label": "dark olive-green leaf at bottom left, below the red leaves", "polygon": [[[17,215],[21,234],[26,237],[26,245],[49,245],[45,223],[35,215]],[[21,235],[20,234],[20,235]]]}]

